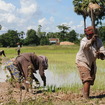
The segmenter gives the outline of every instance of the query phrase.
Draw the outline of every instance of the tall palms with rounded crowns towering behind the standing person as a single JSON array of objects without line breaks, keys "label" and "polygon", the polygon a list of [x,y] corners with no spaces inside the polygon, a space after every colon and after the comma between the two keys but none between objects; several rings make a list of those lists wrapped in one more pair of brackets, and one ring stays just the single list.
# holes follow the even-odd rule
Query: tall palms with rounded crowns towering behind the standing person
[{"label": "tall palms with rounded crowns towering behind the standing person", "polygon": [[[91,9],[89,4],[97,4],[100,8]],[[84,18],[84,28],[86,28],[86,17],[89,16],[92,20],[92,25],[101,24],[101,20],[105,18],[105,0],[73,0],[74,11]],[[92,17],[93,15],[93,17]]]}]

